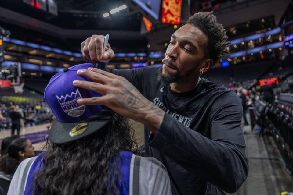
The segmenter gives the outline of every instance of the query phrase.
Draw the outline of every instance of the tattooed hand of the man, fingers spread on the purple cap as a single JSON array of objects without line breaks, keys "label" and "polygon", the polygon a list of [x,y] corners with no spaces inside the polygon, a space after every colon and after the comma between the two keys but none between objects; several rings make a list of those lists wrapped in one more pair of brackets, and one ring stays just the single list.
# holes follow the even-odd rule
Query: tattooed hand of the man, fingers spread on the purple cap
[{"label": "tattooed hand of the man, fingers spread on the purple cap", "polygon": [[78,70],[77,73],[95,82],[74,80],[74,86],[102,94],[101,97],[79,99],[78,104],[105,105],[122,116],[143,123],[152,133],[160,128],[165,112],[147,100],[124,77],[96,68]]}]

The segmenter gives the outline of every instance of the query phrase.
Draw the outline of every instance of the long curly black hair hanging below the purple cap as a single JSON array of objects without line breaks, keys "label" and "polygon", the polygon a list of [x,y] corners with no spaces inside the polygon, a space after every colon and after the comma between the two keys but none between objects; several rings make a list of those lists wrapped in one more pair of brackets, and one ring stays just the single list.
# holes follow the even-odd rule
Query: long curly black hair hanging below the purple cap
[{"label": "long curly black hair hanging below the purple cap", "polygon": [[96,133],[65,144],[48,144],[50,149],[41,154],[43,168],[34,179],[38,195],[118,195],[119,151],[139,155],[129,119],[117,113]]}]

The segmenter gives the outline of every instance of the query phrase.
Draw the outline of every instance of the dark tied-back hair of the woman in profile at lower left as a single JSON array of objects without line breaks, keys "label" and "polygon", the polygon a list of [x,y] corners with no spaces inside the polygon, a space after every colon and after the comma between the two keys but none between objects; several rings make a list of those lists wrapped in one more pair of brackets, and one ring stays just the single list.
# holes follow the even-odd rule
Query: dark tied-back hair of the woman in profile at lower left
[{"label": "dark tied-back hair of the woman in profile at lower left", "polygon": [[26,138],[13,140],[7,147],[7,154],[0,158],[0,171],[7,175],[13,175],[21,161],[18,152],[24,152],[26,146]]}]

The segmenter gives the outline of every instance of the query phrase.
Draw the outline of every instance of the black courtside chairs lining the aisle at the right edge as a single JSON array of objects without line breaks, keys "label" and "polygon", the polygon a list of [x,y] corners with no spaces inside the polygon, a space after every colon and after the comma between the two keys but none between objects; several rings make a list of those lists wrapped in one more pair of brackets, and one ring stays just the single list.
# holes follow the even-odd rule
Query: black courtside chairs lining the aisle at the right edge
[{"label": "black courtside chairs lining the aisle at the right edge", "polygon": [[261,127],[261,134],[272,134],[288,172],[293,172],[293,94],[281,93],[274,105],[256,100],[251,121]]}]

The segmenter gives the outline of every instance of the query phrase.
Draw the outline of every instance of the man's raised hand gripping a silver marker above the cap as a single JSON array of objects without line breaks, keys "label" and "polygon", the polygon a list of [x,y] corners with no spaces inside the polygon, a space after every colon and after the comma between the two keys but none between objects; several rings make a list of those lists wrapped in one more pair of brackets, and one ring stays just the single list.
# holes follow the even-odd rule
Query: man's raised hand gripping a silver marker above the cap
[{"label": "man's raised hand gripping a silver marker above the cap", "polygon": [[106,51],[103,53],[104,44],[103,35],[92,35],[81,43],[81,53],[83,58],[96,65],[99,62],[109,62],[114,58],[114,51],[111,49],[110,44],[107,44]]}]

